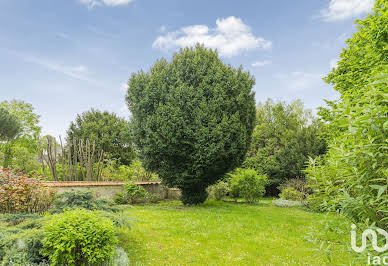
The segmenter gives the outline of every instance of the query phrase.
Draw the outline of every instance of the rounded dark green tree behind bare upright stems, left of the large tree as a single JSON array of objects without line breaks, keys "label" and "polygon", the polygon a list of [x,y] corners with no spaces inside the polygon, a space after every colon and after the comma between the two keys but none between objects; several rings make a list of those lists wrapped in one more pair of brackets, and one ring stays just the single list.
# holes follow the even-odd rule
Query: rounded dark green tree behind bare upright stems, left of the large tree
[{"label": "rounded dark green tree behind bare upright stems, left of the large tree", "polygon": [[103,150],[110,159],[129,165],[135,158],[129,134],[129,122],[114,113],[95,109],[77,115],[67,131],[67,140],[95,141],[96,150]]}]

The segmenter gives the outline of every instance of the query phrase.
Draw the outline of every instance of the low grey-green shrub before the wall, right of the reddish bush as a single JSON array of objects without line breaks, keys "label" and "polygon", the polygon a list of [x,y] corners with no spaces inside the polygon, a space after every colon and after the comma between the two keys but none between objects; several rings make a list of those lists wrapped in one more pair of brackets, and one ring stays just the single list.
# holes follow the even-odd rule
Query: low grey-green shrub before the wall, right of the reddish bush
[{"label": "low grey-green shrub before the wall, right of the reddish bush", "polygon": [[79,208],[87,210],[115,211],[115,208],[111,205],[112,203],[105,199],[95,199],[93,192],[90,190],[66,191],[57,195],[53,212],[60,213],[63,210]]}]

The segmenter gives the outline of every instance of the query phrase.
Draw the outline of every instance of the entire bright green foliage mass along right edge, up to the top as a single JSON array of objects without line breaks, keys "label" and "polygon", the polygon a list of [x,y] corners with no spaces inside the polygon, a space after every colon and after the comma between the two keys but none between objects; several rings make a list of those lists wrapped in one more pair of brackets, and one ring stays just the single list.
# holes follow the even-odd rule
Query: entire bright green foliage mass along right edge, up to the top
[{"label": "entire bright green foliage mass along right edge, up to the top", "polygon": [[346,41],[338,67],[326,80],[341,93],[329,109],[329,150],[307,169],[314,189],[310,206],[341,210],[355,222],[388,226],[388,2]]}]

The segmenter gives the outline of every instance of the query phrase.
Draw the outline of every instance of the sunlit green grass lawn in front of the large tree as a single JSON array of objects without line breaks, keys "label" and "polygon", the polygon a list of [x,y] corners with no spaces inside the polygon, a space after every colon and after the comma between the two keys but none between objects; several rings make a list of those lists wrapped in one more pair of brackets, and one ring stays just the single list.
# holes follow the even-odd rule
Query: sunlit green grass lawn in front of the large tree
[{"label": "sunlit green grass lawn in front of the large tree", "polygon": [[[125,215],[134,219],[133,226],[121,231],[120,241],[132,263],[140,265],[349,264],[350,253],[334,252],[329,262],[319,245],[306,240],[309,232],[321,229],[321,221],[340,217],[270,203],[130,206]],[[334,244],[334,249],[341,247]]]}]

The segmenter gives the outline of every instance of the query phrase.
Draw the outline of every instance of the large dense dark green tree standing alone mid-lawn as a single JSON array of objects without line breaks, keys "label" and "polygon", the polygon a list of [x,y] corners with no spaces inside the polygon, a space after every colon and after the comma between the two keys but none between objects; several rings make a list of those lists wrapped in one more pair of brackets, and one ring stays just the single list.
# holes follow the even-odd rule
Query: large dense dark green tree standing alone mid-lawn
[{"label": "large dense dark green tree standing alone mid-lawn", "polygon": [[184,204],[239,166],[255,121],[254,78],[197,45],[129,80],[127,103],[144,167],[182,190]]}]

